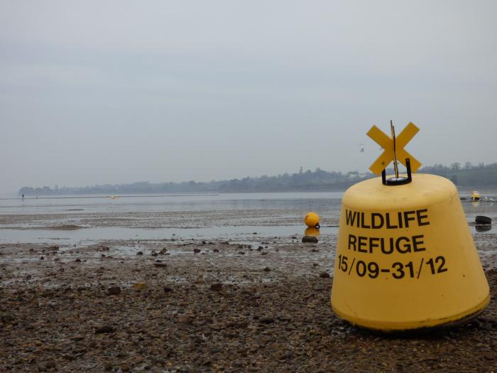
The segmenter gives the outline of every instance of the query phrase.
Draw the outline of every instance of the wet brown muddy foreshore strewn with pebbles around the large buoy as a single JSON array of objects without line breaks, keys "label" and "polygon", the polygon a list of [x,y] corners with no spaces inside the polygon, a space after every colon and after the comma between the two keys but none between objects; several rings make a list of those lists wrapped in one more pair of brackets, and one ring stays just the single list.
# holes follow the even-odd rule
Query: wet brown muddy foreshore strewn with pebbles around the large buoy
[{"label": "wet brown muddy foreshore strewn with pebbles around the large buoy", "polygon": [[336,236],[300,239],[1,244],[0,372],[497,371],[496,234],[475,237],[490,306],[417,335],[339,320]]}]

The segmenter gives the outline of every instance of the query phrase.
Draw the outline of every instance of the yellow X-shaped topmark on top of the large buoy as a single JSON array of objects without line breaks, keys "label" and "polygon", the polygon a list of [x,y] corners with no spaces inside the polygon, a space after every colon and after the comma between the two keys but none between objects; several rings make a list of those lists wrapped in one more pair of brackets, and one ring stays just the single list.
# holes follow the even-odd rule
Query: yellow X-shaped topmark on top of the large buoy
[{"label": "yellow X-shaped topmark on top of the large buoy", "polygon": [[[410,153],[405,151],[404,146],[406,146],[408,142],[413,139],[419,130],[420,129],[418,129],[413,123],[409,123],[398,136],[395,136],[395,155],[397,156],[398,161],[406,167],[407,165],[405,164],[405,158],[409,158],[410,169],[413,172],[416,172],[417,169],[420,168],[421,163],[419,163],[416,158],[411,156]],[[372,173],[379,175],[381,171],[387,168],[391,161],[393,161],[393,139],[390,136],[387,136],[377,126],[372,126],[367,135],[383,148],[381,156],[379,156],[378,159],[376,159],[376,161],[374,161],[374,163],[369,167]]]}]

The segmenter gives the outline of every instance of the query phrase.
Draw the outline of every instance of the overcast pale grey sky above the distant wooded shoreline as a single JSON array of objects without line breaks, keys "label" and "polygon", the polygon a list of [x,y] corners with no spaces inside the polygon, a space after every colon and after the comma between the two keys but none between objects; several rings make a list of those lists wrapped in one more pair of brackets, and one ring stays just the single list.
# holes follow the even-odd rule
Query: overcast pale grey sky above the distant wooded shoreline
[{"label": "overcast pale grey sky above the distant wooded shoreline", "polygon": [[3,194],[497,161],[496,1],[0,4]]}]

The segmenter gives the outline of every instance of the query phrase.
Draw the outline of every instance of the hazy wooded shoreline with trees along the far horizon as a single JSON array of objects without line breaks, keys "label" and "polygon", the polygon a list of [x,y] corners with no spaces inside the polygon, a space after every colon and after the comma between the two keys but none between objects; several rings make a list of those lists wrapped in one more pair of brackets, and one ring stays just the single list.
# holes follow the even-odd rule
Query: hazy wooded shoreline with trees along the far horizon
[{"label": "hazy wooded shoreline with trees along the far horizon", "polygon": [[[472,188],[496,187],[497,186],[497,163],[485,165],[479,163],[473,166],[466,162],[464,166],[460,163],[452,163],[451,166],[435,164],[420,168],[419,173],[433,173],[452,180],[456,185]],[[388,170],[393,173],[393,170]],[[350,185],[366,178],[372,178],[372,173],[359,173],[350,171],[347,173],[335,171],[323,171],[316,168],[315,171],[303,171],[298,173],[283,173],[274,176],[262,175],[251,178],[247,176],[241,179],[218,180],[209,182],[196,182],[194,180],[182,183],[149,183],[141,181],[132,184],[104,184],[85,186],[80,188],[54,188],[44,186],[42,188],[23,187],[19,195],[125,195],[125,194],[161,194],[161,193],[255,193],[255,192],[291,192],[291,191],[324,191],[344,190]]]}]

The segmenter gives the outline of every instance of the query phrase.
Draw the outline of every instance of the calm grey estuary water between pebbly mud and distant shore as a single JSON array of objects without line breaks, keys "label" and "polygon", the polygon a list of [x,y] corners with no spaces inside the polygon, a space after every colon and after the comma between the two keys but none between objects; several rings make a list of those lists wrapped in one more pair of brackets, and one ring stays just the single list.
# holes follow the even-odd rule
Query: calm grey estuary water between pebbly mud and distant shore
[{"label": "calm grey estuary water between pebbly mud and distant shore", "polygon": [[[470,192],[461,193],[469,197]],[[483,194],[483,193],[482,193]],[[334,217],[336,224],[343,192],[328,193],[239,193],[219,195],[146,195],[120,196],[111,199],[96,196],[75,196],[59,198],[4,198],[0,199],[0,242],[60,242],[64,244],[97,242],[105,239],[238,239],[251,241],[253,233],[259,237],[302,237],[304,225],[302,216],[316,211],[325,220]],[[497,193],[484,194],[497,200]],[[474,204],[463,201],[468,221],[476,215],[487,215],[495,220],[497,203]],[[200,216],[204,220],[197,227],[168,227],[162,217],[170,215]],[[222,219],[229,215],[229,219]],[[91,219],[98,217],[126,217],[140,222],[136,227],[95,227]],[[154,219],[161,217],[163,224],[156,229]],[[4,217],[4,220],[1,220]],[[11,218],[26,217],[26,222],[11,222]],[[53,217],[53,220],[51,220]],[[91,218],[90,218],[91,217]],[[23,219],[21,219],[23,220]],[[111,221],[111,219],[109,219]],[[43,229],[43,225],[76,224],[81,229]],[[197,222],[198,224],[198,222]],[[41,225],[41,229],[40,229]],[[19,229],[23,228],[23,229]],[[26,229],[28,228],[28,229]],[[486,232],[496,233],[495,225]],[[337,234],[337,227],[322,227],[322,236]]]}]

